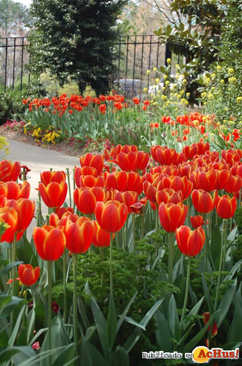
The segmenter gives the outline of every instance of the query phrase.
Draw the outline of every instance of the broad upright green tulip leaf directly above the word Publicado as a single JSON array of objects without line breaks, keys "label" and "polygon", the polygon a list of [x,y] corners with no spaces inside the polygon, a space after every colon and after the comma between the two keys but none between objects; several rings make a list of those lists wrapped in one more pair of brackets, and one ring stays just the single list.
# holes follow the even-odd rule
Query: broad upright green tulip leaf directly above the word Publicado
[{"label": "broad upright green tulip leaf directly above the word Publicado", "polygon": [[158,309],[154,315],[157,322],[157,329],[155,330],[156,342],[159,349],[163,349],[165,352],[172,350],[170,330],[166,317]]}]

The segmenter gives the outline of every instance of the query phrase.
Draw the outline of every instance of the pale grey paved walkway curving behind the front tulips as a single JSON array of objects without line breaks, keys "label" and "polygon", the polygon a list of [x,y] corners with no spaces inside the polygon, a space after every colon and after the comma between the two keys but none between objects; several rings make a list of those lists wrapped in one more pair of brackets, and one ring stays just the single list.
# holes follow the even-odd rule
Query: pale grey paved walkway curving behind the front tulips
[{"label": "pale grey paved walkway curving behind the front tulips", "polygon": [[[38,200],[38,192],[35,190],[40,182],[40,172],[49,170],[64,170],[70,169],[70,172],[74,166],[80,166],[79,158],[76,156],[63,155],[61,152],[43,149],[38,146],[25,144],[24,142],[8,139],[9,142],[9,154],[5,159],[14,161],[20,161],[21,165],[28,166],[31,171],[29,173],[30,180],[28,182],[31,185],[30,200]],[[19,181],[20,182],[20,181]],[[73,180],[71,179],[71,186],[73,186]],[[72,189],[73,192],[73,189]],[[67,193],[66,202],[69,205],[69,194]],[[36,204],[35,204],[36,205]],[[36,206],[35,206],[36,207]],[[43,216],[48,213],[48,209],[45,204],[42,204]],[[27,232],[27,236],[30,239],[33,228],[36,225],[36,220],[33,219]]]}]

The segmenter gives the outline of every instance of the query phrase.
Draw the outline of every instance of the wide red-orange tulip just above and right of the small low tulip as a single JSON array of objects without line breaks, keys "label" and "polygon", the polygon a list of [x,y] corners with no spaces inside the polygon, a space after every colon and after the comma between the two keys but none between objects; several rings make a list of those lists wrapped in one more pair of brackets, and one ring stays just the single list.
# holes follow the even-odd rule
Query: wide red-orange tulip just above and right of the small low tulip
[{"label": "wide red-orange tulip just above and right of the small low tulip", "polygon": [[57,261],[64,252],[66,239],[63,228],[44,225],[33,229],[33,240],[39,256],[44,261]]}]

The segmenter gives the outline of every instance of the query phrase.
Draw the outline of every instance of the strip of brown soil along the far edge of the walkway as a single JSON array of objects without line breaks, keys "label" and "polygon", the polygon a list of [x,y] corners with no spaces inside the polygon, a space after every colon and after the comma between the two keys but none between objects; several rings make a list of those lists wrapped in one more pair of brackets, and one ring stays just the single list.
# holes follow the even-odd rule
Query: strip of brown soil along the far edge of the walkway
[{"label": "strip of brown soil along the far edge of the walkway", "polygon": [[52,144],[44,144],[42,142],[36,142],[34,137],[31,135],[24,134],[21,130],[13,130],[9,129],[5,126],[0,126],[0,135],[5,136],[9,139],[18,140],[25,142],[26,144],[40,146],[41,148],[45,148],[48,150],[59,151],[62,154],[69,156],[80,156],[83,155],[83,148],[77,148],[75,146],[69,145],[66,141],[61,141],[60,143]]}]

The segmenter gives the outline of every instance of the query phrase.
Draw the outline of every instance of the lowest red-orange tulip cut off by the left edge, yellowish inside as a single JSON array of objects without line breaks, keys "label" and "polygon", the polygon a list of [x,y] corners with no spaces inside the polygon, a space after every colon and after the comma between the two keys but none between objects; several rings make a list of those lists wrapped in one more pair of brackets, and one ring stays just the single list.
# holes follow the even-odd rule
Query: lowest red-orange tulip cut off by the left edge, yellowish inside
[{"label": "lowest red-orange tulip cut off by the left edge, yellowish inside", "polygon": [[9,227],[2,234],[0,242],[7,241],[10,243],[14,240],[14,234],[18,224],[18,214],[12,207],[0,208],[0,220],[4,221]]}]

